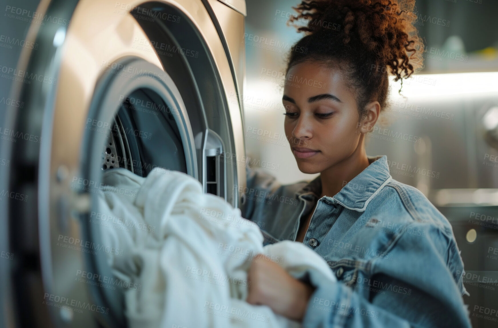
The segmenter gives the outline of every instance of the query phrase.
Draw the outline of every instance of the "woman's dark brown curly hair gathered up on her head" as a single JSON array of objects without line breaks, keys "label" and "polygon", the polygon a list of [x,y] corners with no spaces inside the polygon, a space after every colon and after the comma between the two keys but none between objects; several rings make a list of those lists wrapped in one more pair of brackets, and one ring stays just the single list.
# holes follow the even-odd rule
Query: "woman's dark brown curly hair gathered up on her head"
[{"label": "woman's dark brown curly hair gathered up on her head", "polygon": [[292,7],[298,14],[287,24],[308,20],[307,25],[296,24],[306,36],[292,47],[285,74],[309,60],[340,67],[354,90],[360,119],[371,101],[377,100],[383,110],[388,74],[398,81],[423,68],[414,5],[415,0],[302,0]]}]

